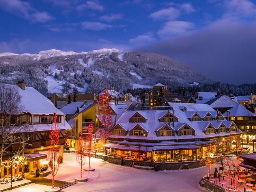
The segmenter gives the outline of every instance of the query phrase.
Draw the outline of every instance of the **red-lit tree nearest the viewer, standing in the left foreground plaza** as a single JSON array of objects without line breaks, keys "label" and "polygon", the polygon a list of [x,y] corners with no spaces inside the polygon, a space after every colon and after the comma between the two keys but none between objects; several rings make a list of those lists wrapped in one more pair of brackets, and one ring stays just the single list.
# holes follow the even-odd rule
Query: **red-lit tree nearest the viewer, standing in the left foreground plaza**
[{"label": "red-lit tree nearest the viewer, standing in the left foreground plaza", "polygon": [[60,157],[60,131],[57,125],[57,114],[54,114],[54,124],[50,130],[50,149],[47,153],[47,160],[49,161],[49,167],[52,171],[52,188],[54,188],[54,177],[58,172],[62,157]]}]

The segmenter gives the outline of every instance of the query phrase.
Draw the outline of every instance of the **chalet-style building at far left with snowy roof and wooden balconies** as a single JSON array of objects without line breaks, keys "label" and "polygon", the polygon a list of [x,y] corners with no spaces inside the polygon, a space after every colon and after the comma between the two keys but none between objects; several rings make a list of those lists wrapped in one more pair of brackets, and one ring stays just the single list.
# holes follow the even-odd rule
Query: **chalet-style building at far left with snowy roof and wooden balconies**
[{"label": "chalet-style building at far left with snowy roof and wooden balconies", "polygon": [[[52,102],[43,96],[36,89],[32,87],[26,87],[24,82],[19,82],[16,85],[6,85],[10,87],[17,87],[19,94],[21,95],[22,105],[24,110],[21,114],[15,114],[14,118],[19,117],[20,125],[26,125],[31,127],[30,132],[21,132],[22,138],[30,145],[25,145],[24,156],[28,160],[25,171],[34,171],[40,168],[41,163],[45,162],[47,151],[50,149],[50,130],[54,123],[54,114],[57,114],[57,126],[60,130],[60,156],[63,157],[63,145],[64,135],[71,129],[69,124],[65,121],[64,114],[58,110]],[[1,120],[1,119],[0,119]],[[15,125],[15,126],[16,126]],[[18,142],[22,142],[19,140]],[[21,147],[21,144],[13,144],[11,147],[12,153],[15,154]],[[9,158],[9,154],[6,154],[6,158]],[[7,177],[13,174],[22,173],[22,167],[18,169],[8,169],[2,166],[1,177]]]}]

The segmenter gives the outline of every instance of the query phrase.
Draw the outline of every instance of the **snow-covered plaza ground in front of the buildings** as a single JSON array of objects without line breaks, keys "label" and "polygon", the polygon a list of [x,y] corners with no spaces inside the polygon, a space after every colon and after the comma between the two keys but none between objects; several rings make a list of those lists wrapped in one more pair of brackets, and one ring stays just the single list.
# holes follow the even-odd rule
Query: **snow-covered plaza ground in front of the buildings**
[{"label": "snow-covered plaza ground in front of the buildings", "polygon": [[[62,190],[63,192],[199,192],[199,181],[207,173],[208,168],[191,170],[147,171],[131,167],[110,164],[101,159],[92,158],[95,171],[83,171],[88,176],[88,182],[77,183]],[[88,160],[86,162],[88,166]],[[214,170],[214,169],[213,169]],[[56,175],[56,180],[73,181],[79,176],[80,169],[76,162],[75,153],[64,153],[64,163]],[[46,178],[51,179],[51,176]],[[49,186],[30,184],[13,192],[43,192]]]}]

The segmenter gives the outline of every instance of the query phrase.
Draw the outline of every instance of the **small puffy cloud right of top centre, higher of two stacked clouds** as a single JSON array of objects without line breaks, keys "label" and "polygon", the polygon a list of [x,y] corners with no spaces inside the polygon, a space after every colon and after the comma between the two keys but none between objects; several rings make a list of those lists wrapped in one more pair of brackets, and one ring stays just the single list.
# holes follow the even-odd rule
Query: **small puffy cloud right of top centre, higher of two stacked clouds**
[{"label": "small puffy cloud right of top centre, higher of two stacked clouds", "polygon": [[151,17],[154,20],[172,20],[178,18],[180,15],[179,9],[176,9],[174,7],[169,7],[167,9],[161,9],[159,11],[156,11],[154,13],[151,13],[149,17]]}]

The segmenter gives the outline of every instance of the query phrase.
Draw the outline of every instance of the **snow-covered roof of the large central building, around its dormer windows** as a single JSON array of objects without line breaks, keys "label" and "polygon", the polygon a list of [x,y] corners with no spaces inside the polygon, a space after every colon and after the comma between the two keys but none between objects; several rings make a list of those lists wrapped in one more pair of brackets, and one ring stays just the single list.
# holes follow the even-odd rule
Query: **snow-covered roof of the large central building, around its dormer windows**
[{"label": "snow-covered roof of the large central building, around its dormer windows", "polygon": [[[224,119],[223,121],[190,121],[189,118],[191,118],[195,113],[199,114],[202,118],[206,116],[206,114],[211,114],[213,117],[217,116],[217,111],[215,111],[213,108],[211,108],[207,104],[191,104],[191,103],[168,103],[170,106],[174,109],[174,115],[178,117],[178,122],[173,123],[170,122],[170,125],[168,125],[168,122],[160,122],[159,119],[166,115],[168,113],[168,110],[126,110],[120,118],[116,121],[116,125],[120,125],[125,130],[130,131],[132,130],[136,125],[139,125],[142,127],[146,132],[148,132],[146,137],[141,136],[130,136],[129,133],[126,136],[116,136],[111,135],[111,138],[125,138],[125,139],[140,139],[140,140],[165,140],[165,139],[184,139],[184,138],[212,138],[216,136],[225,136],[229,134],[236,134],[234,132],[221,132],[216,134],[205,134],[203,130],[207,128],[209,123],[212,124],[212,126],[217,130],[219,129],[220,125],[223,123],[225,127],[229,128],[232,125],[232,121],[226,121]],[[180,110],[180,108],[183,107],[187,108],[187,112],[183,112]],[[132,123],[129,121],[129,119],[134,114],[140,114],[142,117],[146,119],[145,123]],[[172,110],[170,111],[172,114]],[[166,125],[167,127],[170,127],[173,130],[178,131],[184,126],[191,127],[195,130],[195,135],[191,136],[178,136],[175,134],[175,136],[157,136],[156,131],[159,130],[161,127],[164,127]]]}]

